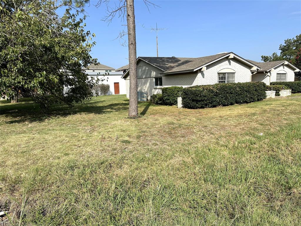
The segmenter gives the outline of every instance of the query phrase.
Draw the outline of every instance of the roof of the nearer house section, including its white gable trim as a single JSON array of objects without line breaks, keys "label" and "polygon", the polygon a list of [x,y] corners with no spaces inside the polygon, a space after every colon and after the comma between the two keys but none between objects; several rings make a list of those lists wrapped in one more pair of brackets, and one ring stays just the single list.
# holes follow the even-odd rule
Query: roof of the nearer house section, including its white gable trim
[{"label": "roof of the nearer house section, including its white gable trim", "polygon": [[[182,58],[182,57],[138,57],[138,60],[143,60],[159,69],[162,70],[161,74],[176,74],[176,73],[185,73],[197,71],[198,69],[205,67],[206,65],[212,64],[215,61],[218,61],[225,57],[230,57],[244,61],[245,64],[248,64],[256,69],[261,69],[256,64],[236,55],[233,52],[224,52],[216,55],[210,55],[205,57],[198,58]],[[129,71],[127,71],[123,78],[128,76]]]}]

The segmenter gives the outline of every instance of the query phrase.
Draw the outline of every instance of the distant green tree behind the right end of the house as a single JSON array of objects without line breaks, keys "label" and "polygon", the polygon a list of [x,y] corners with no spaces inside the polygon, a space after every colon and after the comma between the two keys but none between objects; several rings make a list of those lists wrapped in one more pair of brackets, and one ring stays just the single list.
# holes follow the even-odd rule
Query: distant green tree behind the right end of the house
[{"label": "distant green tree behind the right end of the house", "polygon": [[274,52],[271,56],[261,56],[261,60],[264,62],[268,61],[280,61],[287,60],[296,67],[296,55],[301,48],[301,34],[297,35],[295,38],[284,40],[284,45],[279,46],[280,55]]}]

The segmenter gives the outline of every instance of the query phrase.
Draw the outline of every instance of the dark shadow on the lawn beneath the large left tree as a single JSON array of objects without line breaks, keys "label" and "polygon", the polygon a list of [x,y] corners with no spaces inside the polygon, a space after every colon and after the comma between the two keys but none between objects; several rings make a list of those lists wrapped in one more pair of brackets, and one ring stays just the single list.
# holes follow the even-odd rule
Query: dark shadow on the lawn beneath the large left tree
[{"label": "dark shadow on the lawn beneath the large left tree", "polygon": [[[106,102],[108,103],[106,105]],[[10,117],[5,121],[6,124],[22,123],[22,122],[42,122],[51,117],[67,117],[79,113],[107,114],[116,111],[125,111],[128,109],[129,102],[120,100],[116,103],[109,104],[105,100],[86,100],[83,103],[76,103],[73,107],[66,104],[54,104],[47,113],[43,113],[39,105],[33,102],[22,102],[11,105],[2,105],[0,115]]]}]

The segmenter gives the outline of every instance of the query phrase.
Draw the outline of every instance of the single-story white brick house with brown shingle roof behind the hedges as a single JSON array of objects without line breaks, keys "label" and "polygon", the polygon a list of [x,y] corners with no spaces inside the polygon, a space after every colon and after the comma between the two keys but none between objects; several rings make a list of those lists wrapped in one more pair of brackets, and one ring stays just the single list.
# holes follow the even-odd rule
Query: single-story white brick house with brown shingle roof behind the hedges
[{"label": "single-story white brick house with brown shingle roof behind the hedges", "polygon": [[[246,60],[233,52],[200,58],[138,57],[137,91],[147,92],[147,98],[161,93],[163,87],[195,86],[215,83],[263,81],[294,81],[294,72],[300,71],[287,61],[259,63]],[[129,71],[126,96],[129,97]]]}]

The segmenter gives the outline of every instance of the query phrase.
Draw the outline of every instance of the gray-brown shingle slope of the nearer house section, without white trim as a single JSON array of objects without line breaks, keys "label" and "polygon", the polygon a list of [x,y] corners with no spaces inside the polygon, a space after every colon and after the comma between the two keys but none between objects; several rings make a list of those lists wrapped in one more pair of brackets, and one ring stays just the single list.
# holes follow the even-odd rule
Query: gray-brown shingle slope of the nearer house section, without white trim
[{"label": "gray-brown shingle slope of the nearer house section, without white trim", "polygon": [[211,56],[198,57],[198,58],[183,58],[183,57],[140,57],[157,67],[162,68],[165,72],[188,71],[207,64],[222,56],[228,55],[227,53],[220,53]]}]

